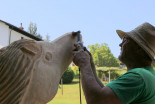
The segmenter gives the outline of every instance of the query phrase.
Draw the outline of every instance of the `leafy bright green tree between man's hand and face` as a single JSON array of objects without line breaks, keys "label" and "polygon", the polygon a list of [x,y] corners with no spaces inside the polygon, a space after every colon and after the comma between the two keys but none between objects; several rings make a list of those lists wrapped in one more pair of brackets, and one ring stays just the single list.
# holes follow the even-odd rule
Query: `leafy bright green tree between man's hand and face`
[{"label": "leafy bright green tree between man's hand and face", "polygon": [[113,56],[106,43],[88,46],[96,66],[118,67],[118,59]]}]

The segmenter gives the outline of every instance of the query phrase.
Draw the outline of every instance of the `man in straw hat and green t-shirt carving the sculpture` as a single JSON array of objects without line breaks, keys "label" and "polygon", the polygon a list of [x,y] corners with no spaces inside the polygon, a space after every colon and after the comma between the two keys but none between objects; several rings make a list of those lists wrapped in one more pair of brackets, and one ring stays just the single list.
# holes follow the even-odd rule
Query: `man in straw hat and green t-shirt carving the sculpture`
[{"label": "man in straw hat and green t-shirt carving the sculpture", "polygon": [[127,72],[104,86],[97,78],[90,52],[75,44],[73,62],[79,66],[87,104],[155,104],[155,27],[144,23],[130,32],[117,30],[123,40],[119,60]]}]

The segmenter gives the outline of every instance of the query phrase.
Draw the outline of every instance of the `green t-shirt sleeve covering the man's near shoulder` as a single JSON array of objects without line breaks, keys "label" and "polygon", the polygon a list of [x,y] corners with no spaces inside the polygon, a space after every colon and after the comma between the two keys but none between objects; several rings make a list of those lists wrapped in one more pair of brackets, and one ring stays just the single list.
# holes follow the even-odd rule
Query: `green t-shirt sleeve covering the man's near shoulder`
[{"label": "green t-shirt sleeve covering the man's near shoulder", "polygon": [[122,104],[129,104],[140,98],[145,84],[139,74],[126,73],[107,86],[114,91]]}]

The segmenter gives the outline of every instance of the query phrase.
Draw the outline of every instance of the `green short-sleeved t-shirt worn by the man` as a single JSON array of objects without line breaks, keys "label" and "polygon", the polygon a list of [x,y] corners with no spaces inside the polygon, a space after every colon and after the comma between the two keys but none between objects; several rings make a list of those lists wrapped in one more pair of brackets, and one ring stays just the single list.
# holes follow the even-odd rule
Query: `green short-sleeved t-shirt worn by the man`
[{"label": "green short-sleeved t-shirt worn by the man", "polygon": [[107,86],[122,104],[155,104],[155,71],[151,66],[129,70]]}]

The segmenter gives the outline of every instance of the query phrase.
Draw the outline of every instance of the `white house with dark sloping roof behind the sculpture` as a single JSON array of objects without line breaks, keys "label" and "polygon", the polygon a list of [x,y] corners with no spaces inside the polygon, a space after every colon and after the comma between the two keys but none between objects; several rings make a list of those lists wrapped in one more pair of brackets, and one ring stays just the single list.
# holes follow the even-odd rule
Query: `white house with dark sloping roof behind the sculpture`
[{"label": "white house with dark sloping roof behind the sculpture", "polygon": [[0,48],[5,47],[19,39],[42,41],[42,39],[24,31],[22,24],[21,27],[16,27],[12,24],[0,20]]}]

